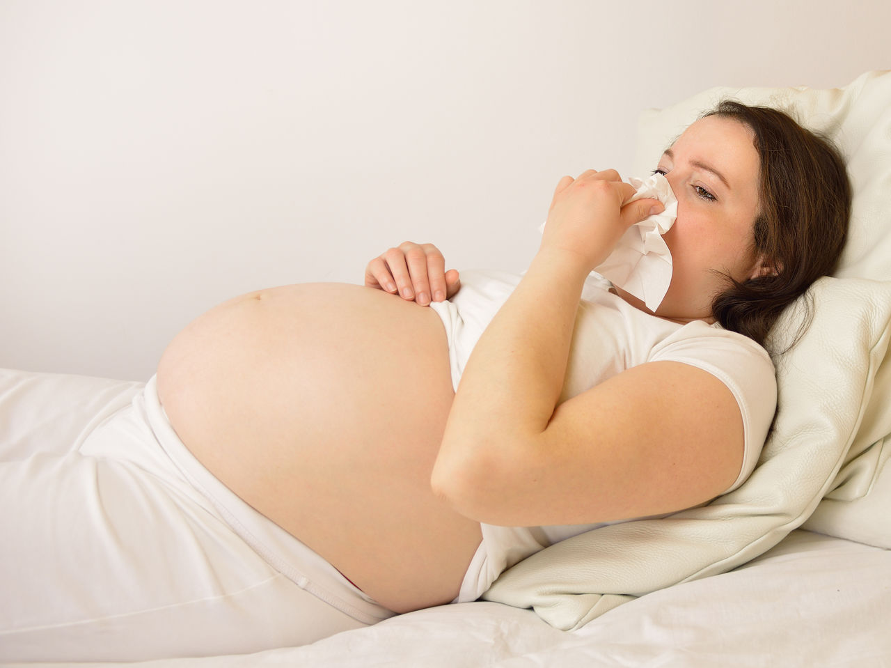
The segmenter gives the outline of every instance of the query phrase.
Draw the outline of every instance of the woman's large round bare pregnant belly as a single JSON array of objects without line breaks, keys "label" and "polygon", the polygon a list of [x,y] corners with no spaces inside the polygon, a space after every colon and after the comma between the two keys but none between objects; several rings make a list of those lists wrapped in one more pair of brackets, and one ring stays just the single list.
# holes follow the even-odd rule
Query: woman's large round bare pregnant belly
[{"label": "woman's large round bare pregnant belly", "polygon": [[480,533],[430,491],[454,398],[435,312],[355,285],[251,293],[176,336],[158,391],[212,474],[381,605],[457,595]]}]

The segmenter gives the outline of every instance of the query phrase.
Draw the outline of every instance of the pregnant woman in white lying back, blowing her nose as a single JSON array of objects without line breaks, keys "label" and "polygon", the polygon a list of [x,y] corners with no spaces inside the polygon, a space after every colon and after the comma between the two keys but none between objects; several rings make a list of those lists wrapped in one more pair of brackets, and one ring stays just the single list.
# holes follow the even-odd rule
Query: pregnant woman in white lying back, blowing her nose
[{"label": "pregnant woman in white lying back, blowing her nose", "polygon": [[4,461],[0,658],[312,642],[738,486],[775,410],[767,334],[845,242],[844,165],[723,103],[656,171],[678,207],[655,311],[589,275],[662,205],[589,170],[560,180],[521,277],[459,283],[405,243],[366,286],[244,295],[82,442]]}]

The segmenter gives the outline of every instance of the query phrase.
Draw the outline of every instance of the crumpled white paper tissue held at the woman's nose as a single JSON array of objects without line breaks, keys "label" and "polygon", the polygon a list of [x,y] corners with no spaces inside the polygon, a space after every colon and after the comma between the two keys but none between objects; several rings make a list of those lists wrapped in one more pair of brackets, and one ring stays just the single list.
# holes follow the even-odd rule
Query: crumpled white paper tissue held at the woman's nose
[{"label": "crumpled white paper tissue held at the woman's nose", "polygon": [[[671,229],[677,218],[677,198],[662,174],[648,178],[629,177],[628,183],[637,191],[628,202],[652,198],[662,202],[665,210],[629,227],[613,252],[594,271],[655,311],[671,283],[671,252],[662,235]],[[544,231],[544,225],[540,230]]]}]

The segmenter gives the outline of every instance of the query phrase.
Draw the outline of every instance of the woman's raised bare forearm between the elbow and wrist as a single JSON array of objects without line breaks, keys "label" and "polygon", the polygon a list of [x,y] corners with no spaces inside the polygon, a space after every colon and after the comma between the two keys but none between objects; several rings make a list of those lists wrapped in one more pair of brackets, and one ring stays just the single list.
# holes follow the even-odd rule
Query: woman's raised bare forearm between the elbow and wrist
[{"label": "woman's raised bare forearm between the elbow and wrist", "polygon": [[535,256],[470,355],[434,472],[443,489],[522,466],[553,415],[589,269],[565,251]]}]

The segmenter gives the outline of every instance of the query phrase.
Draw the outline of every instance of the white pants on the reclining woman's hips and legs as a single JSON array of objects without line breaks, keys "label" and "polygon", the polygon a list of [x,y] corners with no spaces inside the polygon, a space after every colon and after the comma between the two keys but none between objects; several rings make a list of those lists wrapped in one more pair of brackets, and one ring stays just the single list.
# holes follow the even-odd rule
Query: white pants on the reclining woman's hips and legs
[{"label": "white pants on the reclining woman's hips and legs", "polygon": [[153,381],[61,441],[0,442],[0,662],[244,654],[393,614],[200,466]]}]

